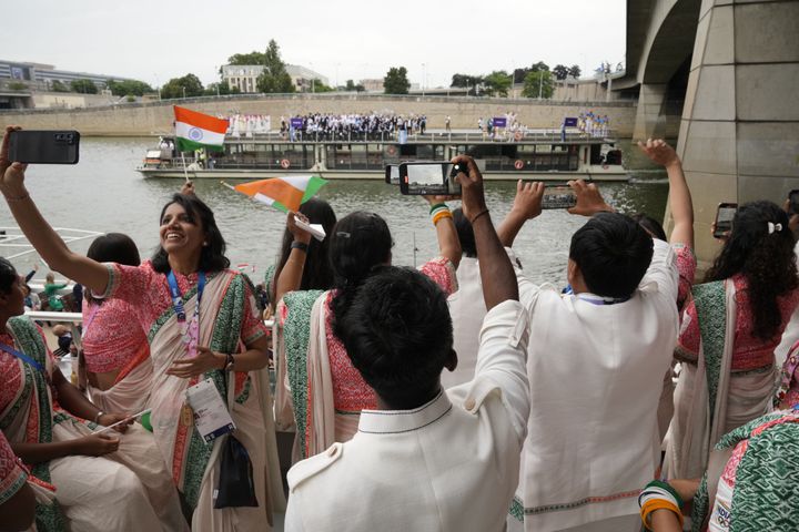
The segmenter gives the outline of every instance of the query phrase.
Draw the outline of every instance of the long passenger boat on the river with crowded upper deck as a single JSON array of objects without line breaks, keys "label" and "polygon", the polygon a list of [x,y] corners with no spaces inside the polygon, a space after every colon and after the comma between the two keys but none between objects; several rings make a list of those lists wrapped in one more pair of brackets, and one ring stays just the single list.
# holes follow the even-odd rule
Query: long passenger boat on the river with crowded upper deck
[{"label": "long passenger boat on the river with crowded upper deck", "polygon": [[396,139],[300,139],[277,134],[226,137],[221,153],[179,153],[162,137],[135,170],[148,178],[260,180],[309,174],[327,180],[383,180],[386,165],[449,161],[461,154],[477,162],[486,180],[628,181],[615,141],[560,130],[528,132],[509,140],[474,133],[427,133]]}]

